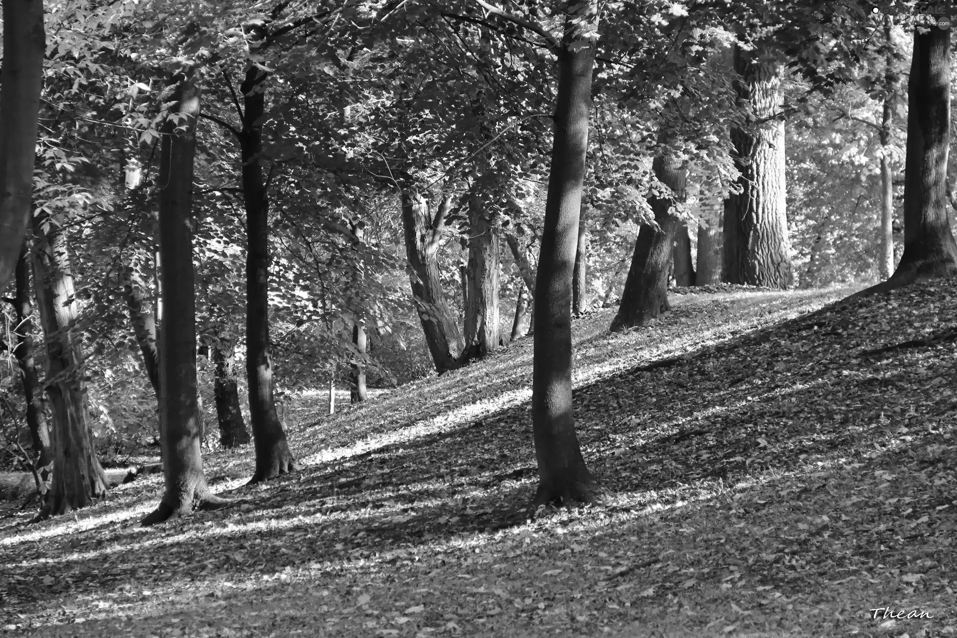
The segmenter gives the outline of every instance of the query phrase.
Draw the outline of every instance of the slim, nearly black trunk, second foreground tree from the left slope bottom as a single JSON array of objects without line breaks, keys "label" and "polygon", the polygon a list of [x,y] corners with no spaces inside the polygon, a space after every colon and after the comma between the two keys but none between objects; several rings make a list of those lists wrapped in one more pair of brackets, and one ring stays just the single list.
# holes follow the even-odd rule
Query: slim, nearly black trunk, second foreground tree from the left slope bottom
[{"label": "slim, nearly black trunk, second foreground tree from the left slope bottom", "polygon": [[256,442],[256,472],[251,483],[296,469],[276,410],[269,352],[269,194],[260,164],[266,77],[265,71],[251,64],[240,86],[245,108],[239,145],[246,208],[246,375],[249,419]]}]

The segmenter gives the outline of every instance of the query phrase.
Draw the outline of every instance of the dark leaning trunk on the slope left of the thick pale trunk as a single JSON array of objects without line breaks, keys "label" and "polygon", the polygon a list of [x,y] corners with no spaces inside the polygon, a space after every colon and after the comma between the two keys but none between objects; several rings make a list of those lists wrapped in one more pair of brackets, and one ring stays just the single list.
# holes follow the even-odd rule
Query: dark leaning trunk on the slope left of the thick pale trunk
[{"label": "dark leaning trunk on the slope left of the thick pale trunk", "polygon": [[[658,180],[674,191],[675,199],[685,195],[687,170],[674,165],[664,157],[655,158],[654,170]],[[634,244],[632,267],[621,293],[621,305],[612,319],[612,331],[647,325],[651,319],[670,308],[668,305],[668,267],[671,264],[672,245],[679,218],[668,212],[674,202],[671,198],[653,198],[658,229],[643,226]]]}]

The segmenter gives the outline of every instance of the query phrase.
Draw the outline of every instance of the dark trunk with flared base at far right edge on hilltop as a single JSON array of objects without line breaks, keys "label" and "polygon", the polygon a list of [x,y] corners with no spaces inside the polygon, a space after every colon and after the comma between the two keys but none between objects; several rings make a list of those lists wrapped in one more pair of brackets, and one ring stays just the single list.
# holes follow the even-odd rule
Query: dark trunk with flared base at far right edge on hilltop
[{"label": "dark trunk with flared base at far right edge on hilltop", "polygon": [[947,215],[950,145],[950,30],[914,33],[907,86],[907,160],[903,254],[890,279],[854,297],[957,274],[957,244]]}]

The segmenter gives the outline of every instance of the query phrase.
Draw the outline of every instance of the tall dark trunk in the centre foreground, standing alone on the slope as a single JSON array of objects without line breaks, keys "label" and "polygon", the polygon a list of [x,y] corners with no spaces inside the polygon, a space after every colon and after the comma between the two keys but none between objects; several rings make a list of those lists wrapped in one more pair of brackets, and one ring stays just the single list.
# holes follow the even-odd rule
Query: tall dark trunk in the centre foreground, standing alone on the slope
[{"label": "tall dark trunk in the centre foreground, standing alone on the slope", "polygon": [[545,203],[542,251],[535,282],[532,428],[539,486],[535,505],[594,499],[571,406],[571,275],[585,180],[594,41],[586,32],[597,4],[568,2],[558,48],[558,95]]}]

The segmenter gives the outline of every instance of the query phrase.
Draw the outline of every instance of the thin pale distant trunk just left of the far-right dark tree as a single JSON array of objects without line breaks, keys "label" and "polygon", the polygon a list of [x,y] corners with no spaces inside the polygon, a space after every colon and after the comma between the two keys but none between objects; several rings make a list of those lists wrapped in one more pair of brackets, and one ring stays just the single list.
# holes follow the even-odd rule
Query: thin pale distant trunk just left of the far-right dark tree
[{"label": "thin pale distant trunk just left of the far-right dark tree", "polygon": [[891,165],[891,133],[894,126],[893,100],[898,91],[898,74],[894,63],[897,41],[894,37],[894,16],[884,18],[884,39],[887,52],[884,55],[883,113],[880,121],[880,254],[878,271],[881,279],[894,273],[894,167]]}]

